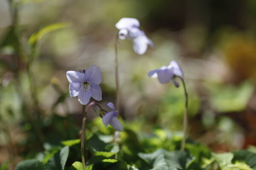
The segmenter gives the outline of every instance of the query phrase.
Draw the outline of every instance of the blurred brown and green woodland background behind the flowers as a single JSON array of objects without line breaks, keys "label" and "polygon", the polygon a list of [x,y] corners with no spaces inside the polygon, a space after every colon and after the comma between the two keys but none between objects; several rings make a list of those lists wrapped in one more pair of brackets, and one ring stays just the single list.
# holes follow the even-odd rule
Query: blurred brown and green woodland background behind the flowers
[{"label": "blurred brown and green woodland background behind the flowers", "polygon": [[[154,43],[139,56],[131,40],[119,40],[125,127],[182,133],[183,88],[147,76],[176,60],[189,92],[189,139],[215,152],[256,145],[255,0],[0,0],[0,164],[28,158],[43,141],[78,138],[82,106],[69,96],[67,71],[97,65],[99,104],[108,110],[122,17],[137,18]],[[55,23],[66,26],[29,45],[32,34]]]}]

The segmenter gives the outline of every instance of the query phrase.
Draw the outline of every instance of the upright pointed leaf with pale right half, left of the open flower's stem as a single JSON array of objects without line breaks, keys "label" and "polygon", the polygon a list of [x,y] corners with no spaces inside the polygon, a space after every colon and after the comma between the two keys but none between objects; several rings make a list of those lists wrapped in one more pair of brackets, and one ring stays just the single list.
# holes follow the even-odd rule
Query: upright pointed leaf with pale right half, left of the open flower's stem
[{"label": "upright pointed leaf with pale right half, left of the open flower's stem", "polygon": [[69,154],[69,147],[63,147],[59,152],[55,153],[46,164],[47,170],[64,170],[67,157]]}]

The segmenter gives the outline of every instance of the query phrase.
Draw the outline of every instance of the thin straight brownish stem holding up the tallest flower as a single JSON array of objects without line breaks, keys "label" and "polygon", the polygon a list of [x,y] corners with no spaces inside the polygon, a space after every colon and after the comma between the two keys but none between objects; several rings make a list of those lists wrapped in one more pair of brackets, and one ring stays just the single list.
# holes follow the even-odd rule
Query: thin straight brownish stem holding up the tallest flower
[{"label": "thin straight brownish stem holding up the tallest flower", "polygon": [[118,71],[118,59],[117,59],[117,44],[118,44],[118,33],[115,39],[115,64],[116,64],[116,110],[119,110],[119,71]]}]

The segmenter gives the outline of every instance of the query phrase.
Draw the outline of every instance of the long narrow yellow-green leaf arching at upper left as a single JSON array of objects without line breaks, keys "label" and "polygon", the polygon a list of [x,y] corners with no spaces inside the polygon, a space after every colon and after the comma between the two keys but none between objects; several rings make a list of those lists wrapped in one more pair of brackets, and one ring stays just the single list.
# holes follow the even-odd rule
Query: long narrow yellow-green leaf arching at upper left
[{"label": "long narrow yellow-green leaf arching at upper left", "polygon": [[38,41],[40,41],[42,39],[42,37],[44,37],[44,35],[52,32],[52,31],[56,31],[61,28],[67,28],[70,26],[71,26],[70,23],[55,23],[55,24],[46,26],[44,28],[41,28],[37,33],[34,33],[30,36],[29,44],[31,46],[34,46]]}]

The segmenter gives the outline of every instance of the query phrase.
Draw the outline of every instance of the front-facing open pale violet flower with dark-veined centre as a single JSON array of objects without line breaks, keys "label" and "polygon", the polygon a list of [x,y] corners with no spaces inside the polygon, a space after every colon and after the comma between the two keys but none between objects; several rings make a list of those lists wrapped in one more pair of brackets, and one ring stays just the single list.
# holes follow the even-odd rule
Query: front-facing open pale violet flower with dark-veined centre
[{"label": "front-facing open pale violet flower with dark-veined centre", "polygon": [[96,65],[92,65],[81,72],[67,71],[67,80],[70,82],[70,97],[78,96],[82,105],[86,105],[90,97],[98,101],[102,100],[102,90],[99,86],[102,76],[99,67]]}]

